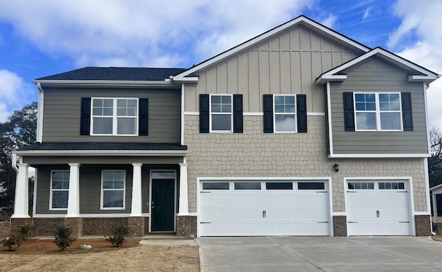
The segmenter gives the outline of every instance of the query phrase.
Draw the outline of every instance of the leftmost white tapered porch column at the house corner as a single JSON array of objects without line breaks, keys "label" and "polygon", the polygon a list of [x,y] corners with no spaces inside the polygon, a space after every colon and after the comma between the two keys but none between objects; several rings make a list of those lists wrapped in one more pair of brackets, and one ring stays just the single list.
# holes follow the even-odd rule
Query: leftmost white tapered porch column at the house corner
[{"label": "leftmost white tapered porch column at the house corner", "polygon": [[28,213],[28,167],[27,163],[17,163],[19,171],[15,179],[14,214],[11,218],[30,218]]}]

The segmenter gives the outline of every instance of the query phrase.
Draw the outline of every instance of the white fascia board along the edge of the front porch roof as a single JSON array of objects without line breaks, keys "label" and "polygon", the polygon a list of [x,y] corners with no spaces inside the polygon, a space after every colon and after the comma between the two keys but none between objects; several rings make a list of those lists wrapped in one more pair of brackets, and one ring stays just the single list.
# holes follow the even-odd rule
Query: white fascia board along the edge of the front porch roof
[{"label": "white fascia board along the edge of the front porch roof", "polygon": [[20,156],[186,156],[187,150],[26,150]]}]

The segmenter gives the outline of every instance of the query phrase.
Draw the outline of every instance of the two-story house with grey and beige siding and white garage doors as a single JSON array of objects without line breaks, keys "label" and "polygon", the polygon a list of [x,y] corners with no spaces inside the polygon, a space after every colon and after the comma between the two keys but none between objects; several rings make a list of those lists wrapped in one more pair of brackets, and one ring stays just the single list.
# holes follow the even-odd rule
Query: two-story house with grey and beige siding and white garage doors
[{"label": "two-story house with grey and beige siding and white garage doors", "polygon": [[38,143],[15,153],[12,227],[430,235],[426,89],[438,77],[301,16],[187,70],[36,79]]}]

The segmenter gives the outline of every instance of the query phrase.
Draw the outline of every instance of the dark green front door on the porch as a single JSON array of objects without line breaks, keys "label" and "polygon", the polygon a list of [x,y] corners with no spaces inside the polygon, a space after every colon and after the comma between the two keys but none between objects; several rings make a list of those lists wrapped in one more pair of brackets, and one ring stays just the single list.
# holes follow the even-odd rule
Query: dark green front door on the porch
[{"label": "dark green front door on the porch", "polygon": [[174,179],[152,179],[151,231],[174,231]]}]

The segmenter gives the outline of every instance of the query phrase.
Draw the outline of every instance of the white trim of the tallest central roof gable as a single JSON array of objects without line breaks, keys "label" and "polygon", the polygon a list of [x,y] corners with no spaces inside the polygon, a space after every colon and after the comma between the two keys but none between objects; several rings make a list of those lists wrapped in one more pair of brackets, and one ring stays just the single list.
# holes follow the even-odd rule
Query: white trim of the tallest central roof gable
[{"label": "white trim of the tallest central roof gable", "polygon": [[293,28],[298,25],[302,25],[309,30],[313,30],[314,32],[317,32],[318,34],[321,34],[325,36],[327,39],[330,39],[332,41],[340,41],[340,43],[345,45],[347,48],[350,48],[357,52],[365,53],[370,50],[370,48],[367,48],[365,45],[358,43],[357,41],[354,41],[353,39],[350,39],[347,36],[344,36],[343,34],[340,34],[330,28],[327,28],[325,25],[321,25],[320,23],[317,23],[316,21],[313,21],[301,15],[300,17],[296,17],[295,19],[288,21],[287,23],[278,25],[276,28],[273,28],[263,34],[260,34],[250,39],[249,41],[245,41],[244,43],[241,43],[240,45],[237,45],[234,48],[231,48],[227,51],[222,52],[221,54],[213,56],[211,59],[207,59],[206,61],[203,61],[198,65],[194,65],[188,70],[180,74],[177,74],[176,76],[173,76],[173,81],[198,81],[198,78],[191,77],[193,73],[203,70],[204,68],[209,67],[214,63],[218,63],[220,61],[228,59],[233,54],[236,54],[242,50],[254,48],[265,39],[269,39],[269,37],[271,36],[276,36],[278,34],[281,34],[282,32],[288,30],[289,28]]}]

